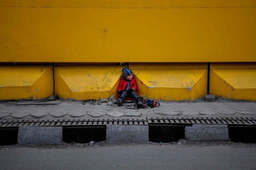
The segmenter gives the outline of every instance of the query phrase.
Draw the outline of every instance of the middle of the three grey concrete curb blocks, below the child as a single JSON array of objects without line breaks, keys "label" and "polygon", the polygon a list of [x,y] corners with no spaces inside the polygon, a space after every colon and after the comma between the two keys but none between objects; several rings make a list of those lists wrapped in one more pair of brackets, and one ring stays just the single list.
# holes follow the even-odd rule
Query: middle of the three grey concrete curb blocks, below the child
[{"label": "middle of the three grey concrete curb blocks, below the child", "polygon": [[148,142],[148,126],[107,125],[106,139],[111,142]]}]

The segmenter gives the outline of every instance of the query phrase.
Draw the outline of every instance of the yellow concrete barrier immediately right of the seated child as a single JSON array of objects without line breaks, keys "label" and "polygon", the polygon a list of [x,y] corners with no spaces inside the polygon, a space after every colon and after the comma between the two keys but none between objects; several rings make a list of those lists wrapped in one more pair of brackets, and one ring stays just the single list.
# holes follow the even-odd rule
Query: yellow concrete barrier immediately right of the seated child
[{"label": "yellow concrete barrier immediately right of the seated child", "polygon": [[139,95],[155,100],[195,100],[207,93],[206,63],[130,63]]}]

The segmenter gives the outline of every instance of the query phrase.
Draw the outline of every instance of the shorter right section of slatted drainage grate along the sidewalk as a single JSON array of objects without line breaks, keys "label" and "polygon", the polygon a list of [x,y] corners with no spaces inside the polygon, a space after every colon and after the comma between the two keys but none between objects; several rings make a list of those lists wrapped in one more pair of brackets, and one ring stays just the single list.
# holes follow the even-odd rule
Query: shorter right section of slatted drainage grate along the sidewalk
[{"label": "shorter right section of slatted drainage grate along the sidewalk", "polygon": [[148,118],[148,124],[227,124],[256,125],[253,117],[181,117],[181,118]]}]

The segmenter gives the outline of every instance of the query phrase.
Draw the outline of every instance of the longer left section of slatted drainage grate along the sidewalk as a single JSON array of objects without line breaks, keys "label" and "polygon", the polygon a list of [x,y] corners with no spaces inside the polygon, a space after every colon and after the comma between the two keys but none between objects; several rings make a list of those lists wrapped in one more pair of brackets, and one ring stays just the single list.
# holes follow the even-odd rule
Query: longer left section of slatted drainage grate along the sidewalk
[{"label": "longer left section of slatted drainage grate along the sidewalk", "polygon": [[0,121],[1,127],[19,126],[83,126],[83,125],[148,125],[146,119],[54,119]]}]

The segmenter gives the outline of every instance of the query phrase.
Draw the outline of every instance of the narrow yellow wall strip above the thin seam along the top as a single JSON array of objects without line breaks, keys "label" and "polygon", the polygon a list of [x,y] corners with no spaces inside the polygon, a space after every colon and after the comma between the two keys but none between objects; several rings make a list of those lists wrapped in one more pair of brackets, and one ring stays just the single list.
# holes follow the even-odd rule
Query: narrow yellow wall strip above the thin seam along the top
[{"label": "narrow yellow wall strip above the thin seam along the top", "polygon": [[0,6],[76,8],[252,7],[255,0],[0,0]]}]

